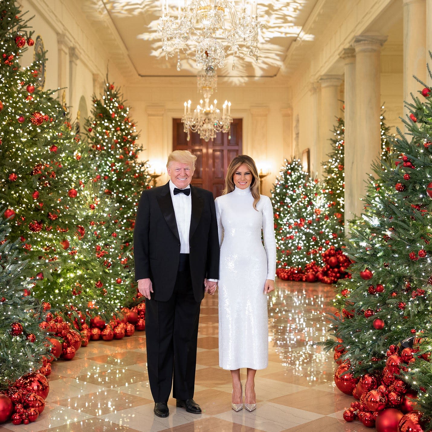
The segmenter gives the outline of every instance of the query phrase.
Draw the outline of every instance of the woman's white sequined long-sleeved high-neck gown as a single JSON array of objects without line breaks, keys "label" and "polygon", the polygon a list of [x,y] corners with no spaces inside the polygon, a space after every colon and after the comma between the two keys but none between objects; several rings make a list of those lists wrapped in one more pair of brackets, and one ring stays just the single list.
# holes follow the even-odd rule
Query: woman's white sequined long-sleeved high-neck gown
[{"label": "woman's white sequined long-sleeved high-neck gown", "polygon": [[[250,188],[216,198],[219,229],[219,366],[264,369],[268,364],[266,279],[275,278],[276,241],[270,198],[257,210]],[[264,245],[261,241],[263,231]]]}]

